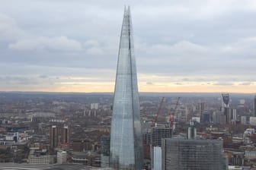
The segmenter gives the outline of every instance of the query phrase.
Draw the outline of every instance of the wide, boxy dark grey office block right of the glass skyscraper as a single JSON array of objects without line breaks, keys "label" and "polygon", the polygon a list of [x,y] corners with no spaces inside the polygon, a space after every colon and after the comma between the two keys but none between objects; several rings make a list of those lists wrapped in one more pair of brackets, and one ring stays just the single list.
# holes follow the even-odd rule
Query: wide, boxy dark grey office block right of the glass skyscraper
[{"label": "wide, boxy dark grey office block right of the glass skyscraper", "polygon": [[162,139],[162,169],[226,170],[225,160],[222,140]]}]

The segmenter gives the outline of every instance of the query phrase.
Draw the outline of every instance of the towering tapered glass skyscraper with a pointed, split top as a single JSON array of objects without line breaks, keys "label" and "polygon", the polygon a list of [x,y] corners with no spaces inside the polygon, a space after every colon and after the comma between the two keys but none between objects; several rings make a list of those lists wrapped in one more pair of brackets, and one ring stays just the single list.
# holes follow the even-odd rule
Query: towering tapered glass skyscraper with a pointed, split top
[{"label": "towering tapered glass skyscraper with a pointed, split top", "polygon": [[142,169],[142,129],[130,7],[124,9],[110,133],[110,167]]}]

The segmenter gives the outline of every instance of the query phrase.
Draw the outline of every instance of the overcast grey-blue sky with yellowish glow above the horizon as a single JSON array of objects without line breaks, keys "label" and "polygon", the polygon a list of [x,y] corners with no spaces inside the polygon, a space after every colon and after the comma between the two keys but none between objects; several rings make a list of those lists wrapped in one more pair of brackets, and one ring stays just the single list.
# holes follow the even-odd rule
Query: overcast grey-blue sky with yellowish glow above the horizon
[{"label": "overcast grey-blue sky with yellowish glow above the horizon", "polygon": [[255,93],[255,0],[0,0],[0,91],[113,92],[124,5],[139,91]]}]

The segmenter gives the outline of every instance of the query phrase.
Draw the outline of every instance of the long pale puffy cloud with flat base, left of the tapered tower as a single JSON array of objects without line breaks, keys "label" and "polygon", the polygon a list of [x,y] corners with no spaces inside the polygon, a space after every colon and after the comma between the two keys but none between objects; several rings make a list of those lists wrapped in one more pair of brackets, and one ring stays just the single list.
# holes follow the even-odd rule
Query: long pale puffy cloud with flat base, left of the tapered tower
[{"label": "long pale puffy cloud with flat base, left of the tapered tower", "polygon": [[21,39],[12,43],[9,49],[16,50],[34,50],[34,49],[53,49],[64,51],[80,51],[82,44],[74,39],[68,39],[66,36],[49,38],[40,36],[34,39]]}]

